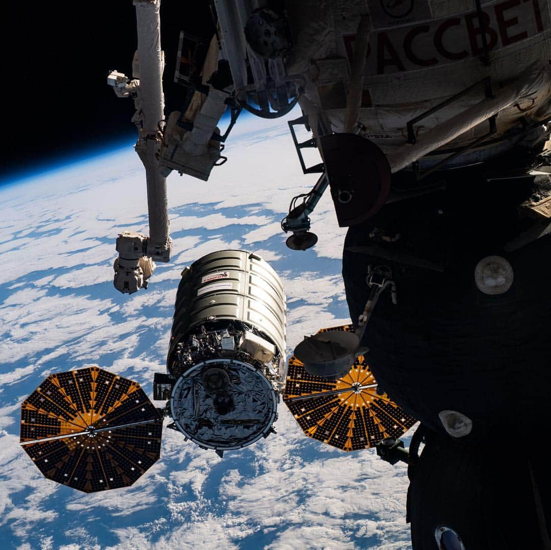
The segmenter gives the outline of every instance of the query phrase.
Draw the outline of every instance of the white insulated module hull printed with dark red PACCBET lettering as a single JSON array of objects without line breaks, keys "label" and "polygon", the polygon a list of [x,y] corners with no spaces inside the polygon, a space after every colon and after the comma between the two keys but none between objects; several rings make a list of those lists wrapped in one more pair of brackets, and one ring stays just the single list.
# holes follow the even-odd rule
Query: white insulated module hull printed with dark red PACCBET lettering
[{"label": "white insulated module hull printed with dark red PACCBET lettering", "polygon": [[[536,72],[551,59],[551,0],[482,2],[489,64],[483,62],[482,31],[474,0],[304,0],[288,4],[294,51],[289,74],[307,78],[306,98],[318,105],[332,130],[342,132],[356,29],[366,10],[371,33],[359,121],[362,135],[385,153],[407,143],[407,122],[486,77],[494,93]],[[531,69],[532,70],[532,69]],[[536,80],[534,79],[534,82]],[[532,86],[497,119],[498,134],[526,121],[546,121],[551,112],[549,79]],[[335,93],[327,94],[334,85]],[[325,98],[331,96],[329,105]],[[468,95],[415,125],[418,138],[484,99],[481,84]],[[488,123],[469,124],[447,147],[466,145],[488,132]]]}]

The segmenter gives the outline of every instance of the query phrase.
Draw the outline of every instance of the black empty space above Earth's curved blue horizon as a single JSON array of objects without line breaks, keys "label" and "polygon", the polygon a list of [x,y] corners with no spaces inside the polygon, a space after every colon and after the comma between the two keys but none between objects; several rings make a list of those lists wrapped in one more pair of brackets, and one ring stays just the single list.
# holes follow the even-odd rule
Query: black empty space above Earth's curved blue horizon
[{"label": "black empty space above Earth's curved blue horizon", "polygon": [[[132,143],[133,102],[117,98],[106,78],[111,69],[131,76],[137,47],[132,0],[18,1],[2,10],[0,184],[94,149]],[[172,83],[180,30],[212,36],[208,0],[161,2],[169,110],[183,92]]]}]

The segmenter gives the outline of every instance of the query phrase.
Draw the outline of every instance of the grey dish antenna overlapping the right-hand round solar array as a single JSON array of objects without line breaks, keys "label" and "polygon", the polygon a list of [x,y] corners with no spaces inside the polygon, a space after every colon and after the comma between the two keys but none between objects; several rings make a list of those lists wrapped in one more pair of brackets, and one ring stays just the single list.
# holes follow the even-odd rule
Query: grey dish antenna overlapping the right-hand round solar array
[{"label": "grey dish antenna overlapping the right-hand round solar array", "polygon": [[308,374],[340,378],[350,370],[359,346],[360,339],[354,332],[330,330],[306,337],[296,346],[294,355]]}]

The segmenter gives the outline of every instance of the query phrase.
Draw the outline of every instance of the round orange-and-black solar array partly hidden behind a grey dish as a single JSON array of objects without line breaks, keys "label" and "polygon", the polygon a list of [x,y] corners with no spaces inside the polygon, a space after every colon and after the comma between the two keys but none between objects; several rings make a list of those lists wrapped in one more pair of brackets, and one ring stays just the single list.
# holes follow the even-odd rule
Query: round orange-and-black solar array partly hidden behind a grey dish
[{"label": "round orange-and-black solar array partly hidden behind a grey dish", "polygon": [[[318,332],[353,330],[352,325]],[[342,378],[330,380],[307,374],[291,357],[283,401],[309,437],[343,451],[368,449],[385,438],[398,439],[417,422],[386,393],[377,393],[377,381],[363,355]]]}]

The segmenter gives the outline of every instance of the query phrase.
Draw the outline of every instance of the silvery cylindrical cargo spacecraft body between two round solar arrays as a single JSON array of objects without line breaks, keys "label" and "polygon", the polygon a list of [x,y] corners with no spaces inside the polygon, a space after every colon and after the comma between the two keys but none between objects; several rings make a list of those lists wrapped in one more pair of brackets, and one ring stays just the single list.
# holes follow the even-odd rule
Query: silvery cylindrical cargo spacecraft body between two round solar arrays
[{"label": "silvery cylindrical cargo spacecraft body between two round solar arrays", "polygon": [[167,373],[169,427],[219,455],[274,432],[285,378],[285,293],[260,256],[213,252],[182,271]]}]

